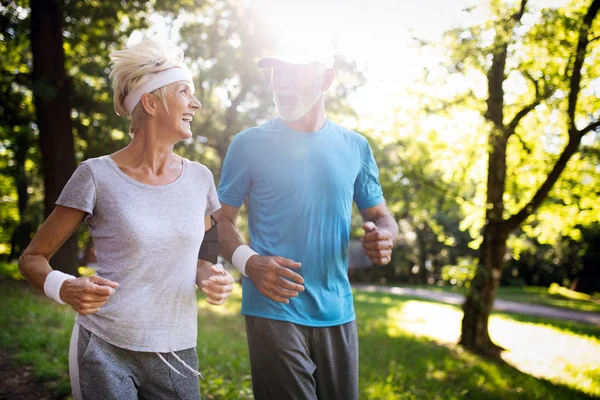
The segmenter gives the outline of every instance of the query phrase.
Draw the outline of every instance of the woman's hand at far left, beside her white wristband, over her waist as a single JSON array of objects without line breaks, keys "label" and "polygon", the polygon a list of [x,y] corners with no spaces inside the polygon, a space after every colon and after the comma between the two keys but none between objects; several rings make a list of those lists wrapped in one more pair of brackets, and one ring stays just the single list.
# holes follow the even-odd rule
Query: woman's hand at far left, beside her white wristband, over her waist
[{"label": "woman's hand at far left, beside her white wristband, over her waist", "polygon": [[70,279],[63,282],[60,298],[81,315],[95,314],[115,292],[118,283],[99,277]]}]

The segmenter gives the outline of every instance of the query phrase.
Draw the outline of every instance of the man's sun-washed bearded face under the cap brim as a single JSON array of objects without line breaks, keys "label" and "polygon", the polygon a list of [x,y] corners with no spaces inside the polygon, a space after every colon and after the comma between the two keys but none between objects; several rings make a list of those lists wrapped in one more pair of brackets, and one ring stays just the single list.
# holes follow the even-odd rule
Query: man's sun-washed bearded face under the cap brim
[{"label": "man's sun-washed bearded face under the cap brim", "polygon": [[273,65],[271,82],[275,106],[281,119],[297,121],[319,100],[323,93],[323,70],[316,63]]}]

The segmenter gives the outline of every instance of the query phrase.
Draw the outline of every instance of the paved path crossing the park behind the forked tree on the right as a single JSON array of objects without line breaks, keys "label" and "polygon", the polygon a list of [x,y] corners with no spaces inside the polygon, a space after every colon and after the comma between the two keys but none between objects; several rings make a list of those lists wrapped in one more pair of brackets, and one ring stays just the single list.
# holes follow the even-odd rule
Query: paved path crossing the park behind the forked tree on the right
[{"label": "paved path crossing the park behind the forked tree on the right", "polygon": [[[464,296],[458,293],[436,292],[427,289],[400,288],[379,285],[352,285],[357,290],[366,292],[390,293],[399,296],[421,297],[424,299],[436,300],[447,304],[461,305]],[[556,318],[567,321],[583,322],[585,324],[600,326],[600,313],[590,311],[569,310],[566,308],[542,306],[537,304],[519,303],[516,301],[496,299],[494,302],[495,311],[505,311],[517,314],[528,314],[539,317]]]}]

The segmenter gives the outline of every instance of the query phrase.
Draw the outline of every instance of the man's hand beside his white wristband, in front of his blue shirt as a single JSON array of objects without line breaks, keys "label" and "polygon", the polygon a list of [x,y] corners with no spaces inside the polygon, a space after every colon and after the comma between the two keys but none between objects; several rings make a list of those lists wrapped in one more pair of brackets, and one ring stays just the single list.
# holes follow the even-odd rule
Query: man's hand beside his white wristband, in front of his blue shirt
[{"label": "man's hand beside his white wristband, in front of his blue shirt", "polygon": [[254,255],[246,262],[246,274],[263,295],[289,304],[290,297],[304,291],[304,279],[289,269],[300,267],[300,263],[287,258]]}]

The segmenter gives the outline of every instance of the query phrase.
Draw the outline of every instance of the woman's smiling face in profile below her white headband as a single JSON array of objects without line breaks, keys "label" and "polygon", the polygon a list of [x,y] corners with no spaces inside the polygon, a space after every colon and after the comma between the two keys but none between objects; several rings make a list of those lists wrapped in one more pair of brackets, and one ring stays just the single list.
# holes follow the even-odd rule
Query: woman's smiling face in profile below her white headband
[{"label": "woman's smiling face in profile below her white headband", "polygon": [[161,126],[176,134],[178,140],[189,139],[192,136],[192,118],[201,107],[194,97],[194,87],[186,81],[172,83],[165,88],[165,101],[167,110],[159,107],[157,113]]}]

